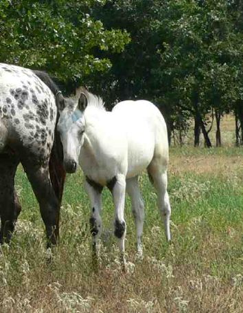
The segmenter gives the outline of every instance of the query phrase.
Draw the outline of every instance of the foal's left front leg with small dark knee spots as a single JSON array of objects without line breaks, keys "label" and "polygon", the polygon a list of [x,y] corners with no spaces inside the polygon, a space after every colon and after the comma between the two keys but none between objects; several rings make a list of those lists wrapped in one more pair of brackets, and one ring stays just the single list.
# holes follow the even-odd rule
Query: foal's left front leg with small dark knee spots
[{"label": "foal's left front leg with small dark knee spots", "polygon": [[97,241],[102,233],[102,186],[87,179],[84,183],[84,188],[86,193],[89,195],[91,202],[91,217],[89,219],[91,234],[92,234],[92,244],[93,244],[93,257],[96,261],[97,258]]}]

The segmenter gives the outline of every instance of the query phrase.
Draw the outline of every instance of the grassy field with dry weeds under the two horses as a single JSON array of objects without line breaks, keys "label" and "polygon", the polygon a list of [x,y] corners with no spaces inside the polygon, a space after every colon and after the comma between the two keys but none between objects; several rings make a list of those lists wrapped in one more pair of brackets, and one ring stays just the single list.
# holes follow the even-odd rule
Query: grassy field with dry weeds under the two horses
[{"label": "grassy field with dry weeds under the two horses", "polygon": [[170,149],[170,245],[156,195],[148,177],[141,177],[144,257],[136,259],[126,199],[126,274],[119,265],[108,191],[99,269],[91,268],[89,201],[81,181],[81,172],[67,177],[61,241],[48,265],[43,222],[19,169],[23,211],[12,245],[2,247],[0,312],[242,312],[243,149]]}]

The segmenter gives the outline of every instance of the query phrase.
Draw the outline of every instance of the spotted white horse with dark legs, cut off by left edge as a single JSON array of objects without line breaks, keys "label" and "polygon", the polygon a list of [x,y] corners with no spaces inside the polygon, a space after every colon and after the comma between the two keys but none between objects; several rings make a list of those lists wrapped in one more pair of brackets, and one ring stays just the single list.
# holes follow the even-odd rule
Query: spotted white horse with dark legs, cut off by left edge
[{"label": "spotted white horse with dark legs, cut off by left edge", "polygon": [[1,244],[10,242],[21,211],[14,191],[20,162],[40,206],[47,246],[56,244],[58,239],[65,171],[56,133],[57,93],[58,87],[44,72],[0,63]]}]

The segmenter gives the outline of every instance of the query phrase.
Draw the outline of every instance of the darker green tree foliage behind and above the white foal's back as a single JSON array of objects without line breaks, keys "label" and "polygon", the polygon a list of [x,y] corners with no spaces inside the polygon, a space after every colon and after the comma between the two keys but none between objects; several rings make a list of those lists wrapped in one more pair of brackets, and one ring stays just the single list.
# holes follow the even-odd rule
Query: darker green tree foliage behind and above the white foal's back
[{"label": "darker green tree foliage behind and above the white foal's back", "polygon": [[[242,6],[237,1],[108,1],[96,16],[126,29],[131,43],[95,80],[106,102],[148,98],[172,129],[242,98]],[[115,19],[111,19],[115,16]]]}]

